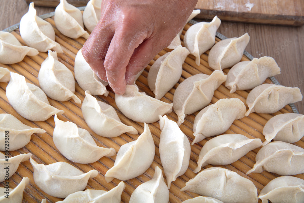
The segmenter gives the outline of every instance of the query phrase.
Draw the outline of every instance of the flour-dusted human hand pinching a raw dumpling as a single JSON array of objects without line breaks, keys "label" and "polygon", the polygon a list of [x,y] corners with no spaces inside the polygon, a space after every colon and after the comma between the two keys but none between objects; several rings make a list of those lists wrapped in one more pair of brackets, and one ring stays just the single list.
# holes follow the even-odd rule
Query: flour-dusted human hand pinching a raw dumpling
[{"label": "flour-dusted human hand pinching a raw dumpling", "polygon": [[197,1],[104,0],[101,18],[82,54],[100,79],[123,94],[185,26]]}]

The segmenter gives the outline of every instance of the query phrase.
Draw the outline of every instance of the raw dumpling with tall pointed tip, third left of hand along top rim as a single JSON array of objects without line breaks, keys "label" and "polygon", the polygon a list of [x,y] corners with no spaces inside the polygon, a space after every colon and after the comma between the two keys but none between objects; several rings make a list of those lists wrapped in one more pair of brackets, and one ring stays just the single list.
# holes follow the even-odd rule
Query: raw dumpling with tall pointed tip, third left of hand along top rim
[{"label": "raw dumpling with tall pointed tip, third left of hand along top rim", "polygon": [[60,44],[55,42],[53,26],[36,15],[34,3],[29,4],[29,11],[20,20],[20,35],[24,42],[38,51],[49,49],[63,53]]}]

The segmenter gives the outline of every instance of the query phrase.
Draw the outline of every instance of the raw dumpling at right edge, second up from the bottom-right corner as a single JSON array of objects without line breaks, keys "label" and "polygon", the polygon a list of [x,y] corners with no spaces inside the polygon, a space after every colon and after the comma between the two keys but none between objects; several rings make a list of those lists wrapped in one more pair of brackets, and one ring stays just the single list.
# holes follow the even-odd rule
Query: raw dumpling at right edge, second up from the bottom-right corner
[{"label": "raw dumpling at right edge, second up from the bottom-right corner", "polygon": [[256,163],[249,173],[266,170],[281,176],[304,173],[304,149],[286,142],[270,142],[262,147],[255,157]]}]

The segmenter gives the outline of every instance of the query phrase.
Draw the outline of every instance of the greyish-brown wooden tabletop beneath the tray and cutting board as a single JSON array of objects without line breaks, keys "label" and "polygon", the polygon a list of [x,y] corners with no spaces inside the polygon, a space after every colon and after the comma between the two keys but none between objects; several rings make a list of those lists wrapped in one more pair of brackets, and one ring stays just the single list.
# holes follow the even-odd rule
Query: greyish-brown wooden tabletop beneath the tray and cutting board
[{"label": "greyish-brown wooden tabletop beneath the tray and cutting board", "polygon": [[[24,0],[0,0],[0,5],[0,30],[19,23],[28,10]],[[35,8],[37,15],[55,10],[38,6]],[[273,57],[281,68],[281,74],[275,76],[278,82],[284,86],[299,87],[301,93],[304,93],[304,26],[222,22],[218,32],[226,37],[239,37],[247,32],[250,42],[246,51],[256,58]],[[300,114],[304,114],[304,100],[295,103],[295,106]]]}]

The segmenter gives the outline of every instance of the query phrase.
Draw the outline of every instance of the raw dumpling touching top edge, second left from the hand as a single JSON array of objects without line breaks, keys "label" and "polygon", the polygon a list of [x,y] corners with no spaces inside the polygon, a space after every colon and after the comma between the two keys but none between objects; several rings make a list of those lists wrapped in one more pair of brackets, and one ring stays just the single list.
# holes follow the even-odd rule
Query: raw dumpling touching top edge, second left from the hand
[{"label": "raw dumpling touching top edge, second left from the hand", "polygon": [[66,0],[60,0],[60,4],[55,9],[54,21],[57,29],[67,37],[88,39],[90,36],[83,29],[81,11]]}]

